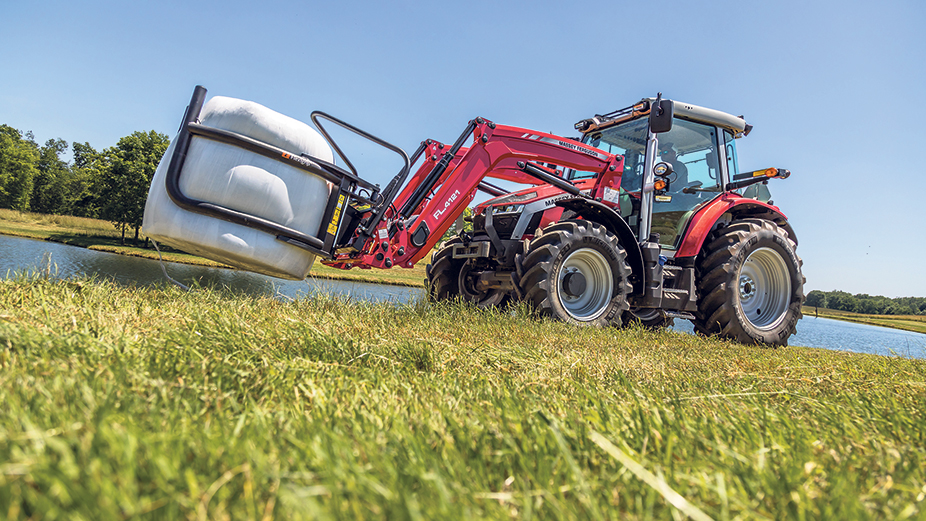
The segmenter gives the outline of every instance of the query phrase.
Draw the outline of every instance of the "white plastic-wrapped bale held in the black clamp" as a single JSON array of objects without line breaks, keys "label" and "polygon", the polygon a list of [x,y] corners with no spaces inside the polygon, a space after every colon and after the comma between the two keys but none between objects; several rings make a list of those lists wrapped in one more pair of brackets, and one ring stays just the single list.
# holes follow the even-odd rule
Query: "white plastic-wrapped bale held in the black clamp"
[{"label": "white plastic-wrapped bale held in the black clamp", "polygon": [[[250,101],[216,96],[203,106],[200,123],[243,134],[293,154],[328,162],[324,138],[305,123]],[[285,279],[304,279],[315,255],[274,234],[177,206],[166,176],[177,140],[154,174],[142,228],[177,249],[236,268]],[[255,215],[312,237],[318,236],[332,185],[280,161],[203,137],[193,137],[180,191],[189,198]]]}]

